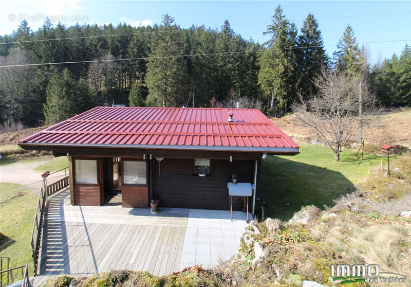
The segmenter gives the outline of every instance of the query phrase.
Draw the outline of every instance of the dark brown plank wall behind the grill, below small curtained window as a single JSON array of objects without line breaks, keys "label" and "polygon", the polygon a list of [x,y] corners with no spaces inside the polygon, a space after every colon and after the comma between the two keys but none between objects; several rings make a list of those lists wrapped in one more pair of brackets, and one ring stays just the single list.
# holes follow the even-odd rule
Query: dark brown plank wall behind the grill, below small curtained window
[{"label": "dark brown plank wall behind the grill, below small curtained window", "polygon": [[[253,183],[253,160],[212,159],[211,176],[206,177],[193,175],[193,164],[194,159],[164,158],[159,170],[154,160],[154,198],[160,206],[228,210],[231,175],[237,174],[238,182]],[[250,198],[250,206],[251,202]],[[240,199],[234,209],[242,210]]]}]

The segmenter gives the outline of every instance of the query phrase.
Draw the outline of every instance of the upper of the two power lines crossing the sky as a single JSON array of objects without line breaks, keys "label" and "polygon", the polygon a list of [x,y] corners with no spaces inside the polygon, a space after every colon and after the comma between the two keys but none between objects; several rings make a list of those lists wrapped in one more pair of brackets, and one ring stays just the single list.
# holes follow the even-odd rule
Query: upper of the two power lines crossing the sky
[{"label": "upper of the two power lines crossing the sky", "polygon": [[[402,15],[402,14],[411,14],[411,12],[401,12],[401,13],[385,13],[385,14],[366,14],[366,15],[353,15],[353,16],[340,16],[340,17],[327,17],[320,18],[316,20],[333,20],[333,19],[345,19],[351,17],[369,17],[369,16],[387,16],[387,15]],[[304,20],[297,20],[295,22],[301,22]],[[234,27],[240,26],[253,26],[253,25],[269,25],[271,23],[254,23],[254,24],[240,24],[235,25]],[[15,42],[5,42],[0,43],[0,45],[6,44],[21,44],[21,43],[34,43],[34,42],[45,42],[45,41],[61,41],[61,40],[76,40],[76,39],[87,39],[87,38],[101,38],[101,37],[118,37],[118,36],[127,36],[127,35],[138,35],[138,34],[153,34],[153,33],[176,33],[181,31],[195,31],[198,29],[207,29],[205,27],[197,28],[188,28],[188,29],[179,29],[179,30],[167,30],[167,31],[150,31],[150,32],[135,32],[135,33],[121,33],[121,34],[108,34],[108,35],[90,35],[90,36],[80,36],[80,37],[67,37],[67,38],[52,38],[52,39],[38,39],[38,40],[27,40],[27,41],[15,41]]]}]

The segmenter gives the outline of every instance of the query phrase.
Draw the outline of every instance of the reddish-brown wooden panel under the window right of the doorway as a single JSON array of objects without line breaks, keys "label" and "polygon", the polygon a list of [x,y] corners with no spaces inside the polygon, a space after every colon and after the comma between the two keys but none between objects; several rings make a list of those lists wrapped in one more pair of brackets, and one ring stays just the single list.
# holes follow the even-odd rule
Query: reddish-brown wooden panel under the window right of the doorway
[{"label": "reddish-brown wooden panel under the window right of the doorway", "polygon": [[148,207],[148,187],[123,185],[121,188],[121,205],[123,207]]}]

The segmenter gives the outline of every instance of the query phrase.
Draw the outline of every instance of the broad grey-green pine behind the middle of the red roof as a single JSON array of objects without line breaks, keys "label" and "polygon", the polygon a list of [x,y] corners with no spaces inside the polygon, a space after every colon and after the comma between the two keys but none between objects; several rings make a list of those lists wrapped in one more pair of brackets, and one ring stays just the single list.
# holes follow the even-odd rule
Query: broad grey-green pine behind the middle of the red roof
[{"label": "broad grey-green pine behind the middle of the red roof", "polygon": [[148,87],[147,104],[181,106],[188,98],[190,87],[184,55],[184,41],[180,29],[169,14],[163,16],[159,33],[150,41],[150,57],[145,81]]}]

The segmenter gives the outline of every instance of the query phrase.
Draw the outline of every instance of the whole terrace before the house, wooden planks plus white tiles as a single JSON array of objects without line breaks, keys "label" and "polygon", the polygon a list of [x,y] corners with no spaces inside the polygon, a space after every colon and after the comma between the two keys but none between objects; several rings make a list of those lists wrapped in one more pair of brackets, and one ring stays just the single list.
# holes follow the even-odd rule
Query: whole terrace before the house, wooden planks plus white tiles
[{"label": "whole terrace before the house, wooden planks plus white tiles", "polygon": [[229,211],[121,205],[73,206],[69,189],[46,204],[39,285],[50,276],[85,276],[111,270],[171,274],[194,263],[210,267],[235,254],[247,225]]}]

